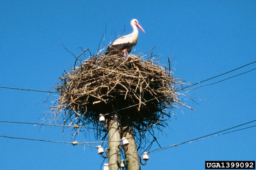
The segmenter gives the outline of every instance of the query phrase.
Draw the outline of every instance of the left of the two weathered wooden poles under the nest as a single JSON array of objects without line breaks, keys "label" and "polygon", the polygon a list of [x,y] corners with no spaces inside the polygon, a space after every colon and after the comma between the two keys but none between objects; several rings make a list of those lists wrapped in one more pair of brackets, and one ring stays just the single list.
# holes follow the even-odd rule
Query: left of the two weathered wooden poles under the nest
[{"label": "left of the two weathered wooden poles under the nest", "polygon": [[113,112],[108,122],[108,167],[109,170],[120,170],[121,152],[118,145],[121,139],[121,126],[118,113],[114,109]]}]

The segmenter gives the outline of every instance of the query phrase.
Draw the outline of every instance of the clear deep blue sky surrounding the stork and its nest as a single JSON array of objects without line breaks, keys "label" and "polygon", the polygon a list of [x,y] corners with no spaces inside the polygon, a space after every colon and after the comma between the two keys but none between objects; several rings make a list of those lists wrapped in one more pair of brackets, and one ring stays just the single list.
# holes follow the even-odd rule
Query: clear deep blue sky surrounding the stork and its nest
[{"label": "clear deep blue sky surrounding the stork and its nest", "polygon": [[[171,61],[173,76],[197,83],[256,61],[255,1],[2,1],[0,86],[49,91],[81,48],[96,54],[102,34],[108,44],[138,19],[135,53],[151,48]],[[104,44],[102,45],[104,46]],[[86,53],[89,56],[89,53]],[[163,61],[162,64],[167,64]],[[256,63],[199,85],[256,68]],[[169,128],[156,137],[162,147],[202,137],[256,119],[256,70],[190,91]],[[47,93],[0,88],[0,121],[39,123]],[[49,100],[55,100],[50,94]],[[243,126],[249,127],[254,123]],[[242,128],[242,127],[241,127]],[[54,126],[0,122],[0,135],[71,141]],[[239,128],[236,128],[239,129]],[[149,154],[142,169],[204,169],[205,160],[256,160],[255,127],[181,144]],[[93,142],[93,132],[79,142]],[[97,144],[95,144],[97,145]],[[154,144],[150,151],[159,148]],[[102,169],[107,163],[91,147],[0,137],[0,169]]]}]

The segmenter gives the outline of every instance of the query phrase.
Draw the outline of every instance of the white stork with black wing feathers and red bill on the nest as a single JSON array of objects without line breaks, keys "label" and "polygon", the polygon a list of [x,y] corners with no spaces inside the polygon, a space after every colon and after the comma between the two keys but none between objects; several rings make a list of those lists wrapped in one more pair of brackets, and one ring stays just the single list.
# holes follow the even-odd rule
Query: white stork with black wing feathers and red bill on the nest
[{"label": "white stork with black wing feathers and red bill on the nest", "polygon": [[104,55],[121,54],[121,55],[124,55],[124,58],[125,58],[125,55],[132,51],[132,47],[137,44],[137,40],[138,40],[139,32],[138,32],[137,27],[140,28],[141,31],[143,31],[144,33],[145,33],[145,31],[139,25],[139,22],[137,21],[137,19],[132,19],[131,25],[132,25],[132,28],[133,28],[133,32],[128,34],[128,35],[125,35],[123,37],[120,37],[116,41],[114,41],[108,47],[108,49],[106,50]]}]

